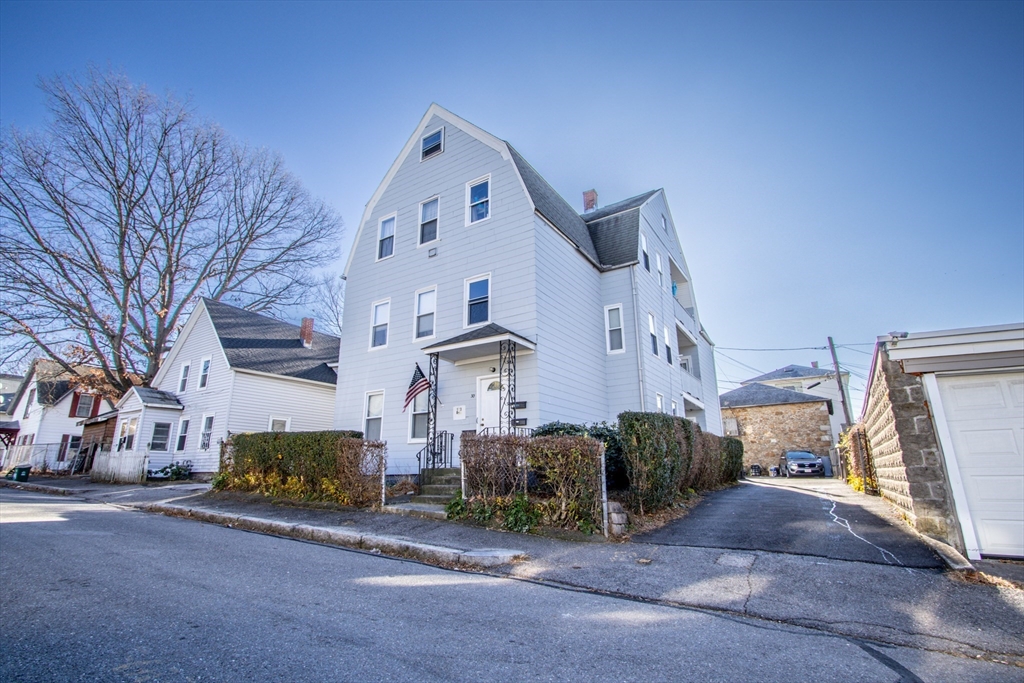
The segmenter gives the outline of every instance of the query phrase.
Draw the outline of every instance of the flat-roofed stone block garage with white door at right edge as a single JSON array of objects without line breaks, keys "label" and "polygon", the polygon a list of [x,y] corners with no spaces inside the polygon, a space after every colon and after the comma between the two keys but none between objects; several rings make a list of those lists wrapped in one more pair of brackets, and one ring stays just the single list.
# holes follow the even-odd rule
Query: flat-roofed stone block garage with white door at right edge
[{"label": "flat-roofed stone block garage with white door at right edge", "polygon": [[1024,557],[1024,324],[879,337],[861,420],[882,495],[919,530]]}]

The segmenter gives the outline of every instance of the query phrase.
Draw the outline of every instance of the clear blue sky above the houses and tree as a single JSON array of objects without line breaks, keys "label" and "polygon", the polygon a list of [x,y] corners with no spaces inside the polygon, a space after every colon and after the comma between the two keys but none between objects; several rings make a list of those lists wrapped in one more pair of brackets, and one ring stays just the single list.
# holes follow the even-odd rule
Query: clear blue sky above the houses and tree
[{"label": "clear blue sky above the houses and tree", "polygon": [[431,101],[578,209],[665,187],[723,390],[827,359],[729,347],[1024,319],[1021,2],[0,2],[3,126],[90,63],[281,152],[346,253]]}]

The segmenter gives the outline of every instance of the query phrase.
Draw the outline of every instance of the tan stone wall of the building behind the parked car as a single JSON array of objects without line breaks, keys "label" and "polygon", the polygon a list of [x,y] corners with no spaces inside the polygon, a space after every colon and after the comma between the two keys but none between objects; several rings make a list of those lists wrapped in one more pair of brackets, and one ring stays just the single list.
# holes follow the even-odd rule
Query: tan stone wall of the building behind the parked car
[{"label": "tan stone wall of the building behind the parked car", "polygon": [[736,421],[743,442],[743,468],[755,463],[765,468],[778,465],[786,451],[809,451],[828,457],[831,424],[824,399],[806,403],[722,408],[722,418]]}]

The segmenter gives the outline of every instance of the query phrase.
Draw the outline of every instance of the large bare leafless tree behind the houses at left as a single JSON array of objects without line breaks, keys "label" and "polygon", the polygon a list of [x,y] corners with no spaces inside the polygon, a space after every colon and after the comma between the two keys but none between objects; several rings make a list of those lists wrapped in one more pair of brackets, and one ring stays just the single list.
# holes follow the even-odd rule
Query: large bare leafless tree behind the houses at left
[{"label": "large bare leafless tree behind the houses at left", "polygon": [[[117,392],[148,383],[199,297],[275,311],[336,256],[339,217],[281,159],[120,74],[42,85],[44,130],[0,138],[0,331]],[[8,337],[10,339],[11,337]]]}]

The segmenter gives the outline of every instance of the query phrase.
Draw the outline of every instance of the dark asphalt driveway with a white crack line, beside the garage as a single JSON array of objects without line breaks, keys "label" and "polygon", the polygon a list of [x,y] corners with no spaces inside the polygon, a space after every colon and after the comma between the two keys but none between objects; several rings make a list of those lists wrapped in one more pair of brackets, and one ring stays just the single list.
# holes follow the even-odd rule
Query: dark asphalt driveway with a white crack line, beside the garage
[{"label": "dark asphalt driveway with a white crack line, beside the garage", "polygon": [[710,494],[685,517],[633,539],[919,568],[945,566],[888,504],[836,479],[742,481]]}]

